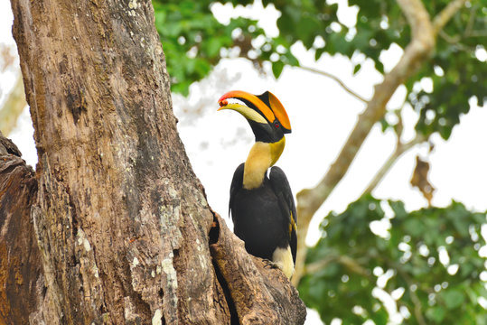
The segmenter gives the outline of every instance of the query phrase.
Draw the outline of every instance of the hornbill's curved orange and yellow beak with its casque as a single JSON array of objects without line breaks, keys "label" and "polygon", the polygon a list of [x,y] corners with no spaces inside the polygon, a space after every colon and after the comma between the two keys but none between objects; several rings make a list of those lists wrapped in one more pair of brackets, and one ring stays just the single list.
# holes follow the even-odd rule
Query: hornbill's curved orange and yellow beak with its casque
[{"label": "hornbill's curved orange and yellow beak with its casque", "polygon": [[[246,105],[239,103],[229,103],[228,99],[239,99]],[[241,115],[247,119],[258,122],[273,124],[276,119],[283,126],[285,133],[291,132],[291,123],[287,116],[286,110],[271,92],[266,91],[262,95],[252,95],[246,91],[233,90],[224,94],[218,103],[221,109],[233,109],[238,111]]]}]

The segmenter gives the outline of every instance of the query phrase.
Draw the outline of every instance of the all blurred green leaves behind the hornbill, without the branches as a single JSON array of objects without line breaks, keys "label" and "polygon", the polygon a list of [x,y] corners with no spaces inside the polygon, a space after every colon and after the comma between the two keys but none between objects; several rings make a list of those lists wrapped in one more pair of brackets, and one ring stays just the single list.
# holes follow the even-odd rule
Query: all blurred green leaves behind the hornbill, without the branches
[{"label": "all blurred green leaves behind the hornbill, without the branches", "polygon": [[[297,43],[313,51],[315,60],[326,55],[349,58],[354,74],[365,60],[385,74],[384,51],[393,45],[405,50],[411,37],[395,0],[349,0],[357,10],[354,25],[342,22],[339,5],[327,1],[262,0],[280,13],[276,37],[256,21],[239,17],[225,24],[211,12],[215,3],[252,5],[253,0],[153,3],[173,91],[184,95],[223,58],[247,58],[258,70],[267,63],[278,78],[286,66],[301,65],[291,51]],[[449,3],[423,1],[432,20]],[[426,138],[439,133],[447,139],[468,112],[471,98],[484,105],[486,8],[485,0],[466,2],[438,33],[429,61],[405,81],[407,103],[419,115],[417,132]],[[402,128],[385,119],[381,123],[383,129]],[[392,211],[390,216],[383,209]],[[386,237],[370,227],[378,223],[391,225]],[[484,213],[469,212],[456,202],[445,209],[407,213],[401,202],[363,197],[342,214],[324,219],[323,236],[308,252],[308,274],[299,285],[304,302],[326,322],[337,317],[345,324],[385,324],[391,315],[378,292],[388,292],[404,323],[484,324],[480,315],[485,310],[477,302],[487,296],[479,279],[485,263],[478,254],[485,245],[482,223]]]}]

